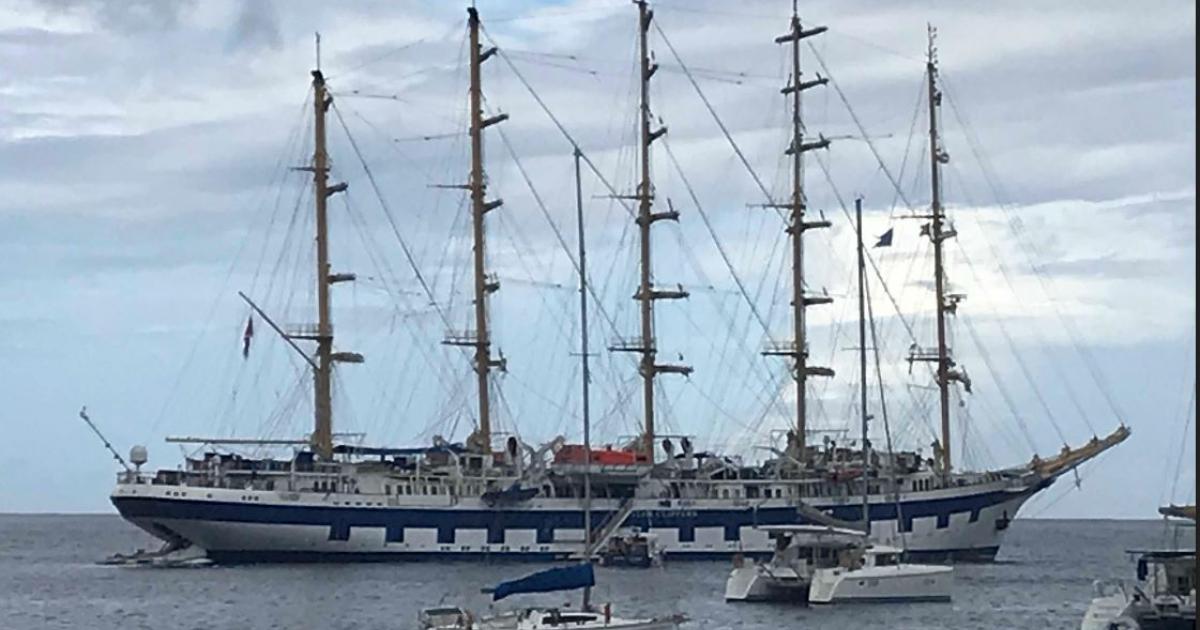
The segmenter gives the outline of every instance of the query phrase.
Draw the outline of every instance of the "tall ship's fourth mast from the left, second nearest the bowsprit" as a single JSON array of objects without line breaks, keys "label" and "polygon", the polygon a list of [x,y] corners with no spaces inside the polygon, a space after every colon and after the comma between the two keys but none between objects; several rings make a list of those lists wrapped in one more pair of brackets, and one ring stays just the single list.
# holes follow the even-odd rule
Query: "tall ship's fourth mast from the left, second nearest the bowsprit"
[{"label": "tall ship's fourth mast from the left, second nearest the bowsprit", "polygon": [[800,40],[824,32],[826,26],[816,26],[804,30],[797,13],[796,2],[792,2],[791,30],[786,35],[775,37],[775,43],[792,44],[792,73],[787,86],[781,92],[791,97],[792,109],[792,137],[788,143],[786,155],[792,157],[792,194],[787,203],[772,204],[775,208],[786,208],[788,211],[787,234],[792,241],[792,340],[780,347],[768,348],[763,354],[775,356],[787,356],[793,361],[792,377],[796,380],[796,439],[788,445],[793,450],[791,455],[805,462],[808,454],[806,422],[808,416],[808,379],[812,376],[832,377],[833,370],[828,367],[810,366],[808,332],[805,324],[805,310],[809,306],[829,304],[833,300],[828,296],[806,296],[804,294],[804,232],[812,228],[827,228],[829,222],[805,221],[806,197],[804,194],[804,154],[816,149],[829,146],[829,140],[820,137],[817,140],[804,142],[804,120],[800,94],[804,90],[824,85],[828,79],[817,76],[814,80],[800,80]]}]

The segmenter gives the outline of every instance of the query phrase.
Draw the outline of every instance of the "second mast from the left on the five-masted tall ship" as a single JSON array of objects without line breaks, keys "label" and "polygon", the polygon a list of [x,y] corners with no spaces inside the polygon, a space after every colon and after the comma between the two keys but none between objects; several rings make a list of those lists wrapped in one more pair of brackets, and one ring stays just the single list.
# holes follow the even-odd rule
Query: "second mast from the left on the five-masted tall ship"
[{"label": "second mast from the left on the five-masted tall ship", "polygon": [[484,91],[481,67],[484,61],[496,54],[496,48],[484,49],[479,42],[479,12],[475,7],[467,8],[467,25],[470,31],[470,180],[466,188],[470,192],[472,236],[474,240],[475,271],[475,332],[474,335],[451,336],[445,343],[468,346],[475,349],[474,368],[479,383],[479,431],[470,440],[475,450],[491,452],[492,416],[488,395],[488,374],[493,367],[504,370],[504,359],[492,358],[492,338],[488,330],[487,296],[500,288],[494,277],[490,277],[485,264],[485,224],[484,216],[499,208],[504,202],[487,200],[487,176],[484,173],[484,130],[506,120],[508,114],[484,118]]}]

